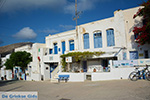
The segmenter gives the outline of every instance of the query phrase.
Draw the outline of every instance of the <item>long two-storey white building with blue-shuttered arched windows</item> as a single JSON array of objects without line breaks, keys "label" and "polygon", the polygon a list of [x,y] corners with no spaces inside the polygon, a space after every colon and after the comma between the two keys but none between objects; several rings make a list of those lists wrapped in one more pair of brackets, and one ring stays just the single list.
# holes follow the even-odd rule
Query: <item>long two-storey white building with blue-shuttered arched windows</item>
[{"label": "long two-storey white building with blue-shuttered arched windows", "polygon": [[[131,31],[135,24],[133,15],[139,8],[115,11],[111,18],[78,25],[77,30],[47,36],[45,44],[33,44],[30,80],[54,80],[58,74],[69,74],[69,81],[84,81],[88,76],[92,81],[127,79],[134,68],[111,69],[105,73],[103,69],[108,67],[109,60],[150,58],[150,44],[138,47]],[[62,72],[60,55],[84,51],[103,51],[105,54],[81,60],[79,64],[72,61],[70,72]]]}]

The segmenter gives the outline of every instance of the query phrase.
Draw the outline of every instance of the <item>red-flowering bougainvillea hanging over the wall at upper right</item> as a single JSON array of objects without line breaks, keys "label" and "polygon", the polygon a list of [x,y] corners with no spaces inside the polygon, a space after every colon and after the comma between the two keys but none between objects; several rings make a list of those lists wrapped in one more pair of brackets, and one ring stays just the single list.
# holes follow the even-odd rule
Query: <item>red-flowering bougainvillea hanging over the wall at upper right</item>
[{"label": "red-flowering bougainvillea hanging over the wall at upper right", "polygon": [[144,45],[150,43],[150,0],[141,5],[144,7],[140,8],[133,18],[142,17],[142,26],[135,26],[133,32],[139,45]]}]

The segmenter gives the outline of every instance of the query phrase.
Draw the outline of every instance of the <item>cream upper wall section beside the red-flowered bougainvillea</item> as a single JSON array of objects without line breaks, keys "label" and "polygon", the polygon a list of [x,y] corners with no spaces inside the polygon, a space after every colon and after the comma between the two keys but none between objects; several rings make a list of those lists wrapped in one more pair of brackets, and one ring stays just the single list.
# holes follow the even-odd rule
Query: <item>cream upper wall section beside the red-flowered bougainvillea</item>
[{"label": "cream upper wall section beside the red-flowered bougainvillea", "polygon": [[134,39],[134,33],[132,32],[135,21],[141,20],[141,17],[133,19],[134,14],[136,14],[139,8],[142,8],[142,6],[122,11],[124,15],[124,25],[126,31],[127,59],[130,59],[129,51],[138,51],[139,59],[143,59],[145,50],[148,50],[150,58],[150,44],[145,44],[138,47],[139,44],[136,43]]}]

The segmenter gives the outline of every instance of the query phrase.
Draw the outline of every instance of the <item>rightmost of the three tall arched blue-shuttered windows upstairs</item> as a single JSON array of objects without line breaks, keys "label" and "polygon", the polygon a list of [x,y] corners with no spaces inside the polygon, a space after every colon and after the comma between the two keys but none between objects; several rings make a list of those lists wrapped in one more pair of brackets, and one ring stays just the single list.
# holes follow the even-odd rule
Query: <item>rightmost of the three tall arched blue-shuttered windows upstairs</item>
[{"label": "rightmost of the three tall arched blue-shuttered windows upstairs", "polygon": [[114,39],[114,30],[108,29],[106,30],[107,33],[107,46],[115,46],[115,39]]}]

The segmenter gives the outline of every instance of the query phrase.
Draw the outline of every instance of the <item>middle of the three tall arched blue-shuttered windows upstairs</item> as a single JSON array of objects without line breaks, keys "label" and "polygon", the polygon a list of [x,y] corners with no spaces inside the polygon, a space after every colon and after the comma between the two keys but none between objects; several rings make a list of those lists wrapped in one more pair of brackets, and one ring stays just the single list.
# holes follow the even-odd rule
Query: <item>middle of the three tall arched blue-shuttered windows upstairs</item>
[{"label": "middle of the three tall arched blue-shuttered windows upstairs", "polygon": [[102,47],[102,32],[97,31],[94,32],[94,48],[101,48]]}]

